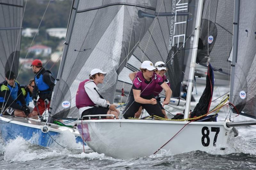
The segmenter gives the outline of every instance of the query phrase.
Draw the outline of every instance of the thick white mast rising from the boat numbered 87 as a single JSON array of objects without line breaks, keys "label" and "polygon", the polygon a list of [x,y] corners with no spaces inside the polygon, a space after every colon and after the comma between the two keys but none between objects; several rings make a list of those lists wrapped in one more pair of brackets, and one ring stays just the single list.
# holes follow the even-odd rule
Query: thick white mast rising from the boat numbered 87
[{"label": "thick white mast rising from the boat numbered 87", "polygon": [[193,42],[193,51],[192,51],[192,58],[190,63],[189,76],[188,76],[188,93],[187,93],[187,99],[186,99],[184,119],[188,118],[189,110],[190,110],[190,100],[192,96],[192,87],[194,83],[194,75],[195,75],[195,69],[196,69],[196,55],[197,55],[198,39],[199,39],[199,34],[201,29],[200,25],[201,25],[202,11],[203,11],[203,3],[204,3],[203,0],[198,1],[198,9],[197,9],[197,15],[196,15],[196,30],[195,30],[195,36],[194,36],[194,42]]}]

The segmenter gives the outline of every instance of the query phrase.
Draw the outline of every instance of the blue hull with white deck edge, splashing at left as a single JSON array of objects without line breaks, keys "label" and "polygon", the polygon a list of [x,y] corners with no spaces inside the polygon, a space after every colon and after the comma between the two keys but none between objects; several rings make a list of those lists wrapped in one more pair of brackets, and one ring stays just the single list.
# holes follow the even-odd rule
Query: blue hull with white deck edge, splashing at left
[{"label": "blue hull with white deck edge, splashing at left", "polygon": [[22,137],[32,144],[49,147],[54,142],[53,139],[56,139],[62,132],[67,130],[76,136],[77,143],[83,142],[78,130],[52,124],[47,127],[48,131],[45,133],[42,130],[44,125],[44,122],[33,119],[24,119],[12,116],[0,117],[1,136],[5,143],[16,139],[17,137]]}]

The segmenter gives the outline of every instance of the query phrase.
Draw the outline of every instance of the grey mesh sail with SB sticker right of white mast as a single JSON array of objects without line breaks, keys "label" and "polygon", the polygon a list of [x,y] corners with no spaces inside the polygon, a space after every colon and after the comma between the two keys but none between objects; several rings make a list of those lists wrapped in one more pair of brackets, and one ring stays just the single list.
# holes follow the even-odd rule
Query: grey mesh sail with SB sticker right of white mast
[{"label": "grey mesh sail with SB sticker right of white mast", "polygon": [[206,66],[209,55],[214,70],[230,75],[233,20],[234,0],[204,0],[196,63]]}]

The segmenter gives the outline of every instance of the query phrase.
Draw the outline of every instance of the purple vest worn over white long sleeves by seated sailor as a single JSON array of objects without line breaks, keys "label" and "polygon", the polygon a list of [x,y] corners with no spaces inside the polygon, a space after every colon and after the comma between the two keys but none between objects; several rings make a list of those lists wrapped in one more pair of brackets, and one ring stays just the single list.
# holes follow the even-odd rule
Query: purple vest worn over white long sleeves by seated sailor
[{"label": "purple vest worn over white long sleeves by seated sailor", "polygon": [[81,107],[87,107],[87,106],[95,106],[96,104],[92,102],[88,94],[86,93],[84,89],[84,84],[86,82],[90,81],[90,79],[86,79],[82,81],[77,89],[76,92],[76,107],[79,109]]}]

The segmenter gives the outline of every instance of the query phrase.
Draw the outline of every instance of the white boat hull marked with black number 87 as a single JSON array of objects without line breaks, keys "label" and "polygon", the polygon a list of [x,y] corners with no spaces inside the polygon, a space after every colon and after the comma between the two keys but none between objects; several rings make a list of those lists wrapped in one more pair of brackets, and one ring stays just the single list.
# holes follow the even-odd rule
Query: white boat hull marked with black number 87
[{"label": "white boat hull marked with black number 87", "polygon": [[[84,142],[93,151],[113,158],[144,157],[154,154],[187,123],[159,120],[84,120],[83,137]],[[81,121],[77,124],[82,136]],[[203,128],[209,129],[209,135],[206,130],[202,132]],[[216,146],[213,146],[215,129],[220,131]],[[162,149],[174,155],[195,150],[225,148],[231,129],[225,122],[190,122]],[[209,145],[203,146],[202,143],[207,145],[207,138]],[[161,150],[157,153],[161,153]]]}]

